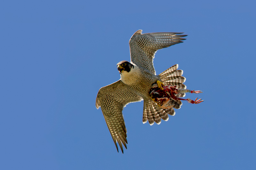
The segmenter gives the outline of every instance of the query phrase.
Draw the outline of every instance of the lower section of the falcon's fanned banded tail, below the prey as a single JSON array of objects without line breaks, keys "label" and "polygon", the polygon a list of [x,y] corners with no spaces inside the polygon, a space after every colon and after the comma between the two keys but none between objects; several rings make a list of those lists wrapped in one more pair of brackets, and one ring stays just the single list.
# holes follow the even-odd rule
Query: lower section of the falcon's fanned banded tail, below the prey
[{"label": "lower section of the falcon's fanned banded tail, below the prey", "polygon": [[149,122],[150,125],[153,125],[154,122],[157,124],[161,123],[161,118],[164,121],[168,121],[169,115],[175,115],[175,111],[173,108],[168,108],[168,109],[159,109],[157,107],[157,104],[152,101],[144,100],[144,108],[143,108],[143,123],[146,123],[147,121]]}]

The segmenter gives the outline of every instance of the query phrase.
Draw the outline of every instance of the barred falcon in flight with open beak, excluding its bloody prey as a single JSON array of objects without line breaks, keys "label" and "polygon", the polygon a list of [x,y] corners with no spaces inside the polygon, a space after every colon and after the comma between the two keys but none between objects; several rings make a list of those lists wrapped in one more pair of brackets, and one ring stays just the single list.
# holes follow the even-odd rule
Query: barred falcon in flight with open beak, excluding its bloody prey
[{"label": "barred falcon in flight with open beak, excluding its bloody prey", "polygon": [[[162,84],[176,85],[181,89],[186,88],[182,84],[186,79],[181,76],[183,71],[177,70],[178,64],[156,75],[153,58],[158,49],[181,43],[182,40],[186,40],[182,37],[187,35],[182,33],[141,33],[142,30],[138,30],[129,41],[131,62],[117,63],[121,79],[100,88],[96,98],[96,107],[97,109],[101,107],[117,152],[117,142],[123,153],[122,143],[127,149],[126,128],[122,114],[126,104],[144,100],[143,123],[148,121],[150,125],[154,122],[160,124],[161,118],[167,121],[168,114],[174,115],[175,111],[173,108],[160,109],[157,107],[149,95],[152,84],[157,83],[161,89],[163,88]],[[180,108],[180,105],[181,103],[173,100],[174,108]]]}]

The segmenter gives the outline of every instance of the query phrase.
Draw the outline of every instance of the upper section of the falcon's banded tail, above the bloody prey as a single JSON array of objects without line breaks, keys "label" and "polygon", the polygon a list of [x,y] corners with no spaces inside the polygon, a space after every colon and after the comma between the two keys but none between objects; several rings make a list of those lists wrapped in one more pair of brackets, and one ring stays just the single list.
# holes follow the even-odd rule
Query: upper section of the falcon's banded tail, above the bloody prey
[{"label": "upper section of the falcon's banded tail, above the bloody prey", "polygon": [[[175,85],[178,89],[186,89],[186,85],[183,85],[183,83],[186,81],[185,77],[182,77],[183,70],[177,70],[178,64],[175,64],[174,66],[170,67],[169,69],[165,70],[161,74],[159,74],[159,78],[161,78],[161,81],[164,83],[164,85]],[[177,95],[177,97],[184,97],[185,93],[180,93]]]}]

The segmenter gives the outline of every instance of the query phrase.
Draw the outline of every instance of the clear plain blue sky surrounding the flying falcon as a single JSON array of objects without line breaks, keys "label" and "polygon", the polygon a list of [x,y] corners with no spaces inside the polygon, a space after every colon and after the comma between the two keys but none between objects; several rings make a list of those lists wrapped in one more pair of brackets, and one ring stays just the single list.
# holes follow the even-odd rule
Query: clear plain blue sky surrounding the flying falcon
[{"label": "clear plain blue sky surrounding the flying falcon", "polygon": [[[0,3],[1,169],[255,169],[255,1],[5,1]],[[175,116],[142,123],[123,111],[116,151],[98,90],[120,79],[129,39],[184,32],[159,50],[156,74],[179,64],[204,93]]]}]

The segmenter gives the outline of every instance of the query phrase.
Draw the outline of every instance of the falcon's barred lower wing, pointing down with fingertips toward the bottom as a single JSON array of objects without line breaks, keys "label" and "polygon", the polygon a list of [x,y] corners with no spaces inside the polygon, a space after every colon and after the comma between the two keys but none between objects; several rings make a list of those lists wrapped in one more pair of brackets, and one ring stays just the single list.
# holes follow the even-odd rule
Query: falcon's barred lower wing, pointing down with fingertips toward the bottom
[{"label": "falcon's barred lower wing, pointing down with fingertips toward the bottom", "polygon": [[96,107],[101,107],[108,129],[116,145],[117,152],[118,147],[116,142],[118,142],[123,153],[122,143],[127,149],[126,128],[122,110],[126,104],[140,100],[142,100],[142,98],[132,92],[121,80],[100,88],[98,92]]}]

